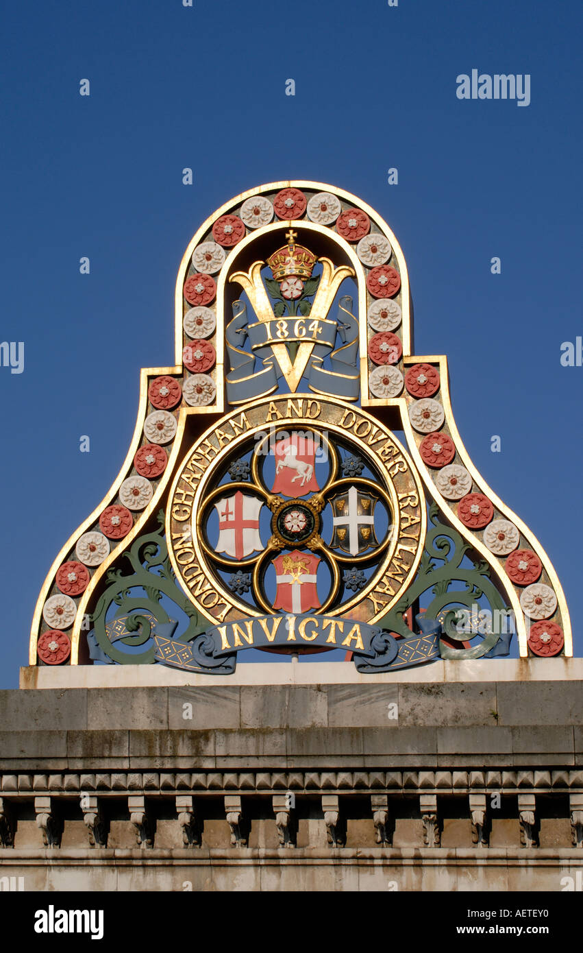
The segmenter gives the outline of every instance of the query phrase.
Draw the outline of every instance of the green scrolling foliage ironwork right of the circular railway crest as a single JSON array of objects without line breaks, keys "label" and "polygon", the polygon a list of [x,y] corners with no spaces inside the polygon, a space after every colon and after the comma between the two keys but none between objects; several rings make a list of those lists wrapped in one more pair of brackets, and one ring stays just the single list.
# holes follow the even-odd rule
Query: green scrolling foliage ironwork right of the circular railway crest
[{"label": "green scrolling foliage ironwork right of the circular railway crest", "polygon": [[[462,560],[472,547],[451,526],[439,523],[438,517],[437,505],[432,503],[430,507],[432,526],[427,532],[417,575],[403,598],[379,620],[378,624],[399,635],[411,636],[411,630],[403,620],[403,613],[417,598],[431,589],[433,598],[427,607],[426,618],[441,619],[444,633],[452,639],[473,639],[475,628],[468,635],[460,633],[459,629],[455,628],[460,618],[459,607],[466,607],[466,618],[468,618],[475,610],[477,600],[485,597],[490,606],[488,615],[493,621],[488,626],[480,626],[478,631],[483,638],[478,645],[457,649],[452,648],[443,639],[439,642],[442,659],[479,659],[490,652],[500,638],[502,626],[508,621],[510,609],[494,586],[490,578],[490,566],[485,559],[472,562],[472,568],[462,567]],[[441,565],[436,565],[437,560],[441,562]],[[464,588],[452,589],[454,581],[462,583]],[[448,610],[448,606],[452,608]]]}]

